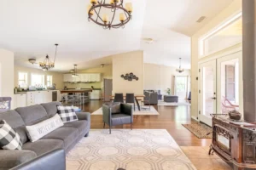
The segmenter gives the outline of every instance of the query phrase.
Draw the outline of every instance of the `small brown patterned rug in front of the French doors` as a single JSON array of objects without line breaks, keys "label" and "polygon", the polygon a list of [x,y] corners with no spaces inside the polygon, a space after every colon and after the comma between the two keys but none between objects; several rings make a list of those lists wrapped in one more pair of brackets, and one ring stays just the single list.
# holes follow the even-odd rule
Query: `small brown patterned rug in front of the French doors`
[{"label": "small brown patterned rug in front of the French doors", "polygon": [[[212,127],[208,127],[203,123],[192,123],[192,124],[183,124],[183,127],[186,127],[191,133],[199,139],[212,139]],[[210,133],[210,134],[207,134]]]}]

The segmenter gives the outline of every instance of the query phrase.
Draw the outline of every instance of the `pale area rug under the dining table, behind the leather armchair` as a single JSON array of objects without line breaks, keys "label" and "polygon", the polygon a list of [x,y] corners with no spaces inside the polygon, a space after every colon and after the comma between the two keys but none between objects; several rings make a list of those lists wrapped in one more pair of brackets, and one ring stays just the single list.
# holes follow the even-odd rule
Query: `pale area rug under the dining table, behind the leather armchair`
[{"label": "pale area rug under the dining table, behind the leather armchair", "polygon": [[[133,112],[133,115],[159,115],[159,112],[154,109],[153,105],[150,105],[150,110],[149,105],[143,106],[144,109],[141,111],[138,111],[137,107],[135,107],[135,111]],[[102,107],[98,109],[97,111],[93,112],[91,115],[102,115]]]}]

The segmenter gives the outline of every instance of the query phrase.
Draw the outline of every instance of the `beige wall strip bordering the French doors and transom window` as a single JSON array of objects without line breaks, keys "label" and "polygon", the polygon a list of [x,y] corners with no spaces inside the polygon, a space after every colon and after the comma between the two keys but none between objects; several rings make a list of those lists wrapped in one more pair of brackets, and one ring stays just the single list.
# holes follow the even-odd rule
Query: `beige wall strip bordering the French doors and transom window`
[{"label": "beige wall strip bordering the French doors and transom window", "polygon": [[[199,38],[206,35],[209,31],[219,26],[224,20],[227,20],[233,14],[236,14],[241,11],[241,0],[234,0],[227,8],[224,8],[222,12],[216,15],[206,26],[202,27],[200,31],[197,31],[195,35],[191,38],[191,116],[198,116],[198,81],[196,77],[198,77],[198,62],[201,61],[199,59]],[[239,44],[241,46],[241,44]],[[230,50],[226,49],[226,50]],[[225,50],[224,50],[225,51]],[[224,53],[224,51],[218,52]],[[206,58],[210,58],[211,56],[207,56]],[[203,58],[203,59],[206,59]]]}]

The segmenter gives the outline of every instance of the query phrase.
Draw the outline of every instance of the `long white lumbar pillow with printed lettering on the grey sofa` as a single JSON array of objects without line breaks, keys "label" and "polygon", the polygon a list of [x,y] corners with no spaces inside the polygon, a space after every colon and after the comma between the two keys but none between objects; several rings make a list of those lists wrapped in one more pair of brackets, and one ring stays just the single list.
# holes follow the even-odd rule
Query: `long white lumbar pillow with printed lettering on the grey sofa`
[{"label": "long white lumbar pillow with printed lettering on the grey sofa", "polygon": [[41,139],[46,134],[54,131],[58,127],[62,127],[64,124],[61,121],[61,117],[56,114],[55,116],[32,126],[26,126],[27,136],[30,141],[35,142]]}]

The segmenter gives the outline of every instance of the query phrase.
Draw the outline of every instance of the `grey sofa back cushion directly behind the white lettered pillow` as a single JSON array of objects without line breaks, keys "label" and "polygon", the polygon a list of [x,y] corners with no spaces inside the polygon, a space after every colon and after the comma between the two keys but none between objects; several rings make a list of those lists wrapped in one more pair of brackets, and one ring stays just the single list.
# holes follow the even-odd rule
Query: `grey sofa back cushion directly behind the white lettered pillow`
[{"label": "grey sofa back cushion directly behind the white lettered pillow", "polygon": [[42,105],[31,105],[17,108],[17,111],[26,125],[42,122],[48,118],[47,112]]}]

